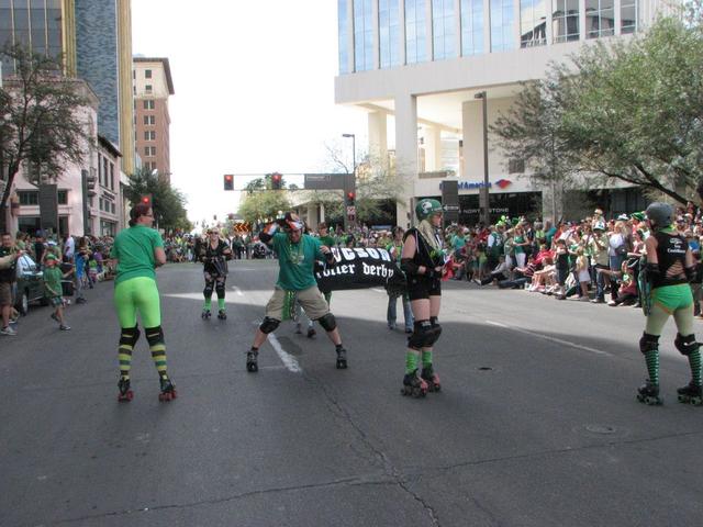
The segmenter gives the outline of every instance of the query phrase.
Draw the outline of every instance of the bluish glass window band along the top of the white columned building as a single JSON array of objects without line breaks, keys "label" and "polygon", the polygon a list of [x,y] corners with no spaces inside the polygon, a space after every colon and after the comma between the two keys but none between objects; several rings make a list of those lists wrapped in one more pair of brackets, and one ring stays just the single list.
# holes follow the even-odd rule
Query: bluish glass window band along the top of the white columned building
[{"label": "bluish glass window band along the top of the white columned building", "polygon": [[634,33],[639,2],[337,0],[339,74]]}]

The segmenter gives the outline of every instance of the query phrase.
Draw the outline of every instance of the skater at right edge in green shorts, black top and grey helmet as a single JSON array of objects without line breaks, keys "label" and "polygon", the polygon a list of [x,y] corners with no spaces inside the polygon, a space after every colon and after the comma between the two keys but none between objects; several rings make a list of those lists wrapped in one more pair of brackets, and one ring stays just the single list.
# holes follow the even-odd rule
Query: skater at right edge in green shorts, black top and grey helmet
[{"label": "skater at right edge in green shorts, black top and grey helmet", "polygon": [[695,267],[687,239],[671,225],[672,215],[673,210],[667,203],[651,203],[647,208],[651,235],[645,242],[645,272],[651,295],[650,305],[646,306],[648,312],[645,311],[647,325],[639,339],[639,350],[645,356],[649,379],[637,391],[637,400],[646,404],[662,403],[659,396],[659,337],[667,319],[673,315],[678,330],[673,345],[688,357],[691,367],[691,382],[678,390],[679,401],[701,405],[701,352],[693,335],[693,295],[689,285]]}]

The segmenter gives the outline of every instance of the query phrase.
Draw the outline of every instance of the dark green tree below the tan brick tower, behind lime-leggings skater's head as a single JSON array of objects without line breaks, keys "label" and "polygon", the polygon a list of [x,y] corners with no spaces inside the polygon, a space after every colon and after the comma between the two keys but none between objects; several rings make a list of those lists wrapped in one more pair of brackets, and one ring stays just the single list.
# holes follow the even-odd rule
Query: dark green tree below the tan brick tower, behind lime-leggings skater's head
[{"label": "dark green tree below the tan brick tower, behind lime-leggings skater's head", "polygon": [[188,220],[186,211],[186,197],[168,182],[142,169],[130,177],[130,184],[124,190],[124,195],[132,203],[138,203],[144,194],[152,194],[152,210],[154,220],[160,228],[191,231],[192,224]]}]

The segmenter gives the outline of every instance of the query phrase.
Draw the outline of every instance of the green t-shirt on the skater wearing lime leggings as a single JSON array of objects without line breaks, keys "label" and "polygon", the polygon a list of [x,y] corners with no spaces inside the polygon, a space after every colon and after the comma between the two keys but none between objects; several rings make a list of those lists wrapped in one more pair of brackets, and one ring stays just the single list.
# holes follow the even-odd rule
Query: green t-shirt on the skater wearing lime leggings
[{"label": "green t-shirt on the skater wearing lime leggings", "polygon": [[154,270],[156,267],[154,249],[156,247],[164,247],[161,235],[144,225],[135,225],[118,234],[110,253],[111,258],[119,260],[114,284],[136,277],[156,280],[156,271]]}]

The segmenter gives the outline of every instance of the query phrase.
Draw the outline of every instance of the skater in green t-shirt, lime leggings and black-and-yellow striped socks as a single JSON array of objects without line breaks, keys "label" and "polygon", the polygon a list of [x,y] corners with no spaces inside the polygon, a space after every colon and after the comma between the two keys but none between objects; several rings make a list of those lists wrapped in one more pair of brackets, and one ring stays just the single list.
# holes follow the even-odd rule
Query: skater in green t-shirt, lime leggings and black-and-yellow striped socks
[{"label": "skater in green t-shirt, lime leggings and black-and-yellow striped socks", "polygon": [[120,360],[119,401],[131,401],[130,370],[132,351],[140,338],[137,311],[144,324],[152,359],[158,371],[159,401],[176,399],[176,386],[166,370],[166,345],[161,329],[161,310],[156,285],[157,266],[166,264],[164,242],[152,228],[154,214],[150,205],[140,203],[130,211],[130,228],[114,239],[111,258],[116,265],[114,280],[114,306],[120,319],[121,335],[118,357]]}]

